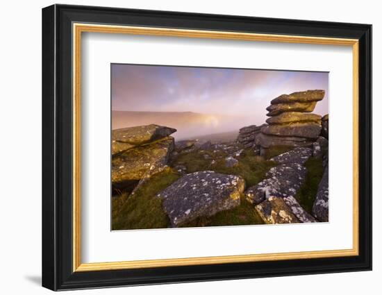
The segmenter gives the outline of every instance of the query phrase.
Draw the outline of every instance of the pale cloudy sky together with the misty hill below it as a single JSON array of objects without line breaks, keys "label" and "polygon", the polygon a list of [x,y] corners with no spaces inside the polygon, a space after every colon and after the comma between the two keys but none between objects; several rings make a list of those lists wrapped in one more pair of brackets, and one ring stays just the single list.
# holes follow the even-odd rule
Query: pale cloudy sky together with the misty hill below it
[{"label": "pale cloudy sky together with the misty hill below it", "polygon": [[[325,96],[313,112],[326,115],[327,72],[112,64],[113,112],[151,113],[113,116],[113,129],[167,124],[178,129],[178,138],[222,133],[265,123],[265,108],[281,94],[316,89]],[[202,116],[171,115],[179,112]]]}]

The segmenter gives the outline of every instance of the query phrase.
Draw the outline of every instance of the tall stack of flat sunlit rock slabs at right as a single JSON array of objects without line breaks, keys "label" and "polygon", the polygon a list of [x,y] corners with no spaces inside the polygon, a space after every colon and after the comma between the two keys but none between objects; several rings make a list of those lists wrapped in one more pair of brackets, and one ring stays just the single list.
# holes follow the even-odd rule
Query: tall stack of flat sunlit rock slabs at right
[{"label": "tall stack of flat sunlit rock slabs at right", "polygon": [[268,125],[256,135],[255,143],[262,152],[276,145],[311,146],[322,133],[322,117],[310,112],[324,95],[324,90],[307,90],[273,99],[267,107]]}]

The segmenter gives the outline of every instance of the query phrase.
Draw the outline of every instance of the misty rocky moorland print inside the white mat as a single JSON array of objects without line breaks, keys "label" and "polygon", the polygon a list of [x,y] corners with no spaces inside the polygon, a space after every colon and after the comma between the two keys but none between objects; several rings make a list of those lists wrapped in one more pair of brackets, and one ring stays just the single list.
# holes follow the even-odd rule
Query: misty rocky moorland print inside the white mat
[{"label": "misty rocky moorland print inside the white mat", "polygon": [[329,222],[329,73],[111,64],[111,230]]}]

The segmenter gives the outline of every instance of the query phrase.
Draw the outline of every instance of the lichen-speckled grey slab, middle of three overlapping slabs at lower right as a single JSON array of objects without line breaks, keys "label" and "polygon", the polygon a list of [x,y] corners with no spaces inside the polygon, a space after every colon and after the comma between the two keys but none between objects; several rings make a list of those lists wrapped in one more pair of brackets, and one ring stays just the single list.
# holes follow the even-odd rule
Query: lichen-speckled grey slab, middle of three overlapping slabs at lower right
[{"label": "lichen-speckled grey slab, middle of three overlapping slabs at lower right", "polygon": [[245,192],[247,201],[260,203],[269,196],[295,196],[306,176],[306,168],[298,163],[278,165],[269,169],[264,180],[249,187]]}]

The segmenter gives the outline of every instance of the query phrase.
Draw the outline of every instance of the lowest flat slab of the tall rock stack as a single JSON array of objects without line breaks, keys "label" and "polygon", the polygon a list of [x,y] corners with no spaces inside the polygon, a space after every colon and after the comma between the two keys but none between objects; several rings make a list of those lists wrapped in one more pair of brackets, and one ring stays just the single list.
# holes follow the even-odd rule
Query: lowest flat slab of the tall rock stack
[{"label": "lowest flat slab of the tall rock stack", "polygon": [[312,146],[313,140],[305,137],[259,133],[256,136],[255,144],[260,145],[263,149],[268,149],[270,146]]}]

